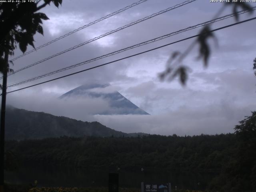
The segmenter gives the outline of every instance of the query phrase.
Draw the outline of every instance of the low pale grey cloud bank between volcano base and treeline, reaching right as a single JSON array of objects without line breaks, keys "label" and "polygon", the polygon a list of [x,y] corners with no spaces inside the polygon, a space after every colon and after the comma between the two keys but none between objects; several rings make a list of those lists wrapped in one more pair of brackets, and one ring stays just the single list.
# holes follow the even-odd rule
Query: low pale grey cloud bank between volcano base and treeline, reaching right
[{"label": "low pale grey cloud bank between volcano base and treeline, reaching right", "polygon": [[[95,116],[102,124],[124,132],[146,132],[164,135],[197,135],[232,133],[238,116],[250,115],[250,106],[182,107],[174,112],[151,116]],[[226,114],[223,116],[223,114]]]}]

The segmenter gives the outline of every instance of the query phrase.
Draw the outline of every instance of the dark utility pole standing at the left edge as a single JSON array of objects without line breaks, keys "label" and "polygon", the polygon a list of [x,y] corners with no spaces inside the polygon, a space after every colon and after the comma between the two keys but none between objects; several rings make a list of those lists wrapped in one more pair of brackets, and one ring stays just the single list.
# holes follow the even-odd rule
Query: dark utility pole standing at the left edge
[{"label": "dark utility pole standing at the left edge", "polygon": [[8,52],[4,52],[4,71],[2,84],[2,104],[0,122],[0,192],[4,192],[4,129],[5,129],[5,106],[6,106],[6,85],[8,71]]}]

